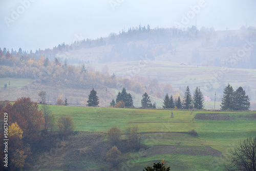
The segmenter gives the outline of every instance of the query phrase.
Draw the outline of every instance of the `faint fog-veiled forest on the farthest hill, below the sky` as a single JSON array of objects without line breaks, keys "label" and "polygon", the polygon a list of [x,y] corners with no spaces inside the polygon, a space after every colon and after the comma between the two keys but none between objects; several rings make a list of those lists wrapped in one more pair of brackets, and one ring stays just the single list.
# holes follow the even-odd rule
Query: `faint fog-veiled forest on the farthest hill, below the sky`
[{"label": "faint fog-veiled forest on the farthest hill, below the sky", "polygon": [[[223,32],[223,37],[217,40],[214,39],[218,34],[214,28],[207,29],[202,27],[198,30],[195,26],[186,29],[178,28],[154,28],[149,25],[132,27],[122,30],[118,34],[111,33],[108,37],[100,37],[97,39],[80,39],[75,40],[71,45],[66,45],[65,42],[53,47],[52,49],[36,50],[35,52],[24,51],[19,48],[18,52],[13,49],[4,48],[4,55],[9,52],[15,56],[17,53],[20,56],[29,56],[36,60],[43,55],[49,60],[54,60],[56,54],[59,55],[58,60],[67,60],[68,63],[91,63],[91,62],[116,62],[116,61],[133,61],[141,60],[142,57],[147,57],[148,60],[155,60],[156,56],[170,55],[169,59],[175,59],[178,44],[186,44],[199,41],[201,46],[198,46],[191,52],[191,58],[186,61],[193,65],[217,66],[229,68],[244,68],[255,69],[256,66],[256,50],[253,47],[256,41],[256,29],[242,27],[240,33],[228,34]],[[245,44],[246,46],[244,46]],[[249,42],[249,43],[248,43]],[[84,58],[70,58],[73,51],[79,49],[96,48],[101,46],[111,45],[110,51],[103,52],[102,56],[92,56]],[[243,48],[250,48],[244,54]],[[220,48],[228,48],[230,55],[228,56],[211,56],[206,57],[205,51],[216,50]],[[233,48],[238,49],[233,51]],[[240,49],[239,49],[240,48]],[[178,48],[179,49],[179,48]],[[179,49],[182,50],[182,49]],[[235,55],[233,55],[235,54]],[[242,57],[241,57],[242,56]],[[187,60],[187,59],[186,59]],[[175,61],[175,60],[170,60]]]}]

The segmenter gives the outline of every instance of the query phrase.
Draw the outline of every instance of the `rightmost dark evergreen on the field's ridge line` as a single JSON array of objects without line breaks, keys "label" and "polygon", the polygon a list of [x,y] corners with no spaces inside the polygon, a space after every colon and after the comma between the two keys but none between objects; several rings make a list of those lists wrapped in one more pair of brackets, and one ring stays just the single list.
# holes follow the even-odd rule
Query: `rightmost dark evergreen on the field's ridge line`
[{"label": "rightmost dark evergreen on the field's ridge line", "polygon": [[247,111],[250,108],[250,99],[248,95],[245,95],[245,91],[242,87],[239,87],[234,93],[234,110],[236,111]]}]

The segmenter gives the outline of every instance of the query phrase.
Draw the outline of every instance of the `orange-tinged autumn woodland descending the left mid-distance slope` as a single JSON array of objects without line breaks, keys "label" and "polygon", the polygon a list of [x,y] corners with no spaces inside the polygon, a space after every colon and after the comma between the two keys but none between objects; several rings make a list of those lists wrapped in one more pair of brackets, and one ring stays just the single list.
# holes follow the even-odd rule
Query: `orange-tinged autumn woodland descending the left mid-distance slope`
[{"label": "orange-tinged autumn woodland descending the left mid-distance slope", "polygon": [[182,95],[183,92],[173,90],[169,84],[158,83],[158,81],[134,76],[129,78],[117,78],[115,74],[103,74],[95,72],[90,65],[74,66],[68,64],[65,60],[59,61],[54,58],[50,61],[48,58],[41,56],[36,60],[33,57],[19,55],[14,56],[7,52],[4,54],[0,50],[0,78],[31,78],[39,79],[42,84],[58,87],[71,87],[78,89],[100,89],[113,88],[127,90],[136,93],[148,92],[151,96],[162,98],[165,93],[174,93],[176,96]]}]

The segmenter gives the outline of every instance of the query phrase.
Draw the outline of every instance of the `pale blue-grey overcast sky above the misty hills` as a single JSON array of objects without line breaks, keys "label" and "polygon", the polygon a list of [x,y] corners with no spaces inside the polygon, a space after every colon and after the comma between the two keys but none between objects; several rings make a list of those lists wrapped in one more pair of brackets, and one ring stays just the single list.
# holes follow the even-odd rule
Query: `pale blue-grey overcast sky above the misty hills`
[{"label": "pale blue-grey overcast sky above the misty hills", "polygon": [[130,27],[256,26],[255,0],[0,0],[0,48],[33,52]]}]

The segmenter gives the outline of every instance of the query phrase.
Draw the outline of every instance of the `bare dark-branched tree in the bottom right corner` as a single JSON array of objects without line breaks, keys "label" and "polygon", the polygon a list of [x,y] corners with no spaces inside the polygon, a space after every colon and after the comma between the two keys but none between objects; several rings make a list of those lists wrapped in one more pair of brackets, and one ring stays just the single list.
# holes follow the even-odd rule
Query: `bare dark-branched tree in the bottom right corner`
[{"label": "bare dark-branched tree in the bottom right corner", "polygon": [[240,141],[234,149],[230,150],[230,164],[225,170],[256,171],[256,137]]}]

